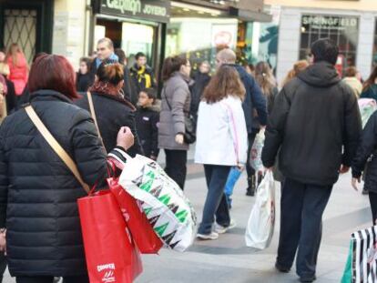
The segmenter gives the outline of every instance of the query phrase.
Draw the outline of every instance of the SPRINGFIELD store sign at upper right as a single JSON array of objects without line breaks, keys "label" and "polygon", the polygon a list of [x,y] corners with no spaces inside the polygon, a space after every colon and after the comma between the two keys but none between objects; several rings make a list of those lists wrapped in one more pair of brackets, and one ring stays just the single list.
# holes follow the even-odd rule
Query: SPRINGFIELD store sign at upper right
[{"label": "SPRINGFIELD store sign at upper right", "polygon": [[357,29],[359,19],[352,16],[302,15],[301,25],[316,29]]}]

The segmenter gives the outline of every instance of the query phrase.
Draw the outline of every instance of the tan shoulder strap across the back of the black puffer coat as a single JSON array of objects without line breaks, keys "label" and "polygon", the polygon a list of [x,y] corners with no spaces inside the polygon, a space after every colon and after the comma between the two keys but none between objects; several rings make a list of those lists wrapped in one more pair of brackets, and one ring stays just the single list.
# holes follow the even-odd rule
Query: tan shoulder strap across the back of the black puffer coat
[{"label": "tan shoulder strap across the back of the black puffer coat", "polygon": [[50,131],[46,128],[45,124],[43,124],[42,120],[36,114],[36,111],[34,110],[33,106],[26,106],[25,111],[27,116],[29,116],[33,124],[38,129],[39,133],[46,139],[48,145],[52,147],[52,149],[54,149],[56,155],[63,160],[63,162],[66,164],[66,167],[68,167],[69,170],[71,170],[73,175],[76,177],[77,181],[81,184],[81,186],[89,195],[90,188],[82,179],[80,173],[78,172],[75,162],[72,160],[71,157],[69,157],[69,155],[66,153],[66,150],[64,150],[64,148],[59,145],[59,143],[56,141],[56,138],[51,135]]}]

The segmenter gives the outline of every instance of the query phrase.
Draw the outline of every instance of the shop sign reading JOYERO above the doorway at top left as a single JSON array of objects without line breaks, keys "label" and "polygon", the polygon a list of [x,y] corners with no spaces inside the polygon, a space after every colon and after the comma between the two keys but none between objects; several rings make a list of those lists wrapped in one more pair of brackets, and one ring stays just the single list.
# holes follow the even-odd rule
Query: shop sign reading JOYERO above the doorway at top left
[{"label": "shop sign reading JOYERO above the doorway at top left", "polygon": [[100,13],[168,23],[170,2],[164,0],[101,0]]}]

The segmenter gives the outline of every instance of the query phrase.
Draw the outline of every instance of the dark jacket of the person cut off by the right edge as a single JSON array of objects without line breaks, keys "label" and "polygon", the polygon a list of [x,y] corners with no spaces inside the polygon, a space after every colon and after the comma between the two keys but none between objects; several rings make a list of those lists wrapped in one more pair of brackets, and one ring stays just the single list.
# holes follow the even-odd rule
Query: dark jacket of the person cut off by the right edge
[{"label": "dark jacket of the person cut off by the right edge", "polygon": [[369,118],[362,131],[356,156],[352,160],[352,177],[362,176],[367,161],[364,188],[377,193],[377,112]]}]

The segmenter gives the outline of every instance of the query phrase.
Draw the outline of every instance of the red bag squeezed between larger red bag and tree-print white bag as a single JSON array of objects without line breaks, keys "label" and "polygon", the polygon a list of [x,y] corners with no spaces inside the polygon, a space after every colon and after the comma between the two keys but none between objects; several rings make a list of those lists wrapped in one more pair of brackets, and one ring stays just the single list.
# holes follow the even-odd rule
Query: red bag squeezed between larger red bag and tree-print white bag
[{"label": "red bag squeezed between larger red bag and tree-print white bag", "polygon": [[162,248],[162,241],[150,225],[143,208],[138,201],[131,197],[126,190],[117,183],[116,178],[107,179],[108,187],[117,199],[123,217],[131,231],[140,252],[142,254],[157,254]]}]

